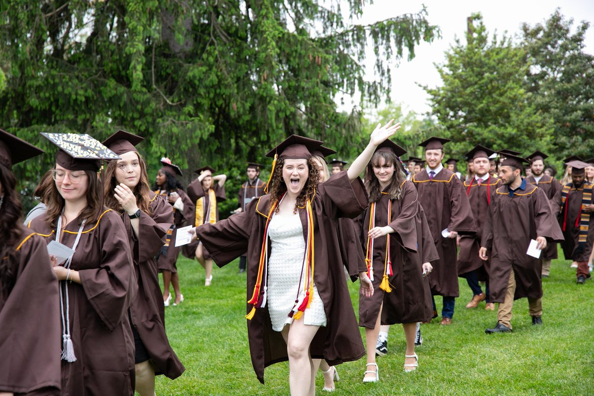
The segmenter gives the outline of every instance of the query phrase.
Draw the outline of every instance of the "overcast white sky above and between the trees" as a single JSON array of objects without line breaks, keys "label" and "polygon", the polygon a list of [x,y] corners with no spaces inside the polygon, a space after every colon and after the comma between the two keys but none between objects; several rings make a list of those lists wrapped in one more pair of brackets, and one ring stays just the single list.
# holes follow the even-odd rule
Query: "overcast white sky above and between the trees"
[{"label": "overcast white sky above and between the trees", "polygon": [[[441,78],[434,63],[443,62],[444,52],[454,43],[454,36],[460,37],[465,42],[463,34],[466,31],[466,18],[473,12],[482,13],[484,24],[490,34],[495,30],[499,34],[506,30],[512,36],[518,34],[523,22],[530,26],[543,23],[557,7],[566,18],[574,19],[574,27],[582,20],[589,21],[591,25],[594,24],[594,1],[592,0],[564,0],[563,2],[560,0],[375,0],[372,5],[366,2],[361,20],[355,23],[369,24],[406,13],[416,13],[422,8],[422,4],[425,4],[428,9],[429,22],[441,28],[442,38],[431,44],[421,43],[415,50],[415,59],[410,62],[403,59],[399,67],[393,68],[391,96],[394,102],[403,103],[404,109],[413,110],[419,114],[429,110],[426,103],[428,96],[415,83],[426,84],[429,87],[441,85]],[[585,52],[594,53],[594,26],[590,26],[587,31]],[[372,70],[371,61],[369,71],[372,73]],[[345,110],[350,110],[354,104],[358,102],[345,100]]]}]

